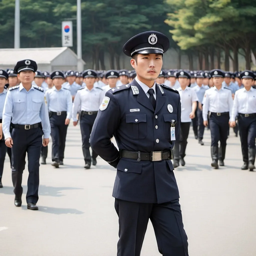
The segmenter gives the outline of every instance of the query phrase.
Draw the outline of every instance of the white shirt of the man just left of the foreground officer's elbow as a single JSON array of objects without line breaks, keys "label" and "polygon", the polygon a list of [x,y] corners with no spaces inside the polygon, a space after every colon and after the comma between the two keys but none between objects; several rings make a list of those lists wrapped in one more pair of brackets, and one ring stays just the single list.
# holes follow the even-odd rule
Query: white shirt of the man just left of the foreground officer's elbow
[{"label": "white shirt of the man just left of the foreground officer's elbow", "polygon": [[72,118],[77,121],[77,113],[80,111],[98,111],[105,96],[105,91],[98,87],[89,90],[87,87],[77,91],[74,98]]}]

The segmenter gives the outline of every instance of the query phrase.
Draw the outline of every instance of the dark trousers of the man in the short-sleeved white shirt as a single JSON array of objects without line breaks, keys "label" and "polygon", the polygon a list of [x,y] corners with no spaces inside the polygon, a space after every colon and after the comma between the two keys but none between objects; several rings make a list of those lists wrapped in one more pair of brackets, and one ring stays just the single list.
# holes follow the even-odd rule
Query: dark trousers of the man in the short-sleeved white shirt
[{"label": "dark trousers of the man in the short-sleeved white shirt", "polygon": [[173,148],[174,160],[176,161],[179,161],[180,158],[184,158],[186,156],[190,124],[191,122],[180,123],[179,135],[178,138],[176,138]]}]

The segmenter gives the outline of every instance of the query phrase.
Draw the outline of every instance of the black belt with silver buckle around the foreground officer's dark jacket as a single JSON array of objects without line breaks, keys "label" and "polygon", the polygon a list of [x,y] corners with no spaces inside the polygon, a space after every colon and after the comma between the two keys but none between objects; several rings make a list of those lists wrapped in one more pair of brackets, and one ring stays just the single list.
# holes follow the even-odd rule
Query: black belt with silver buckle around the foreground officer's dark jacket
[{"label": "black belt with silver buckle around the foreground officer's dark jacket", "polygon": [[138,162],[140,161],[162,161],[167,159],[173,159],[173,151],[155,151],[151,153],[143,153],[140,151],[127,151],[127,150],[120,150],[119,151],[120,158],[130,158],[130,159],[137,159]]}]

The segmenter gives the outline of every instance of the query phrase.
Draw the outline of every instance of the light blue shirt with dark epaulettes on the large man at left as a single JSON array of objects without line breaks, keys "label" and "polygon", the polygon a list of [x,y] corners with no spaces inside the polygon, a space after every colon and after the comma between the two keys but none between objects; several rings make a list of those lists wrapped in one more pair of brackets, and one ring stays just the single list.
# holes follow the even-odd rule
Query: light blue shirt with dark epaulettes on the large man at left
[{"label": "light blue shirt with dark epaulettes on the large man at left", "polygon": [[49,138],[51,126],[44,90],[31,86],[27,91],[22,83],[7,91],[3,110],[3,133],[5,138],[11,138],[10,122],[13,124],[42,123],[44,138]]}]

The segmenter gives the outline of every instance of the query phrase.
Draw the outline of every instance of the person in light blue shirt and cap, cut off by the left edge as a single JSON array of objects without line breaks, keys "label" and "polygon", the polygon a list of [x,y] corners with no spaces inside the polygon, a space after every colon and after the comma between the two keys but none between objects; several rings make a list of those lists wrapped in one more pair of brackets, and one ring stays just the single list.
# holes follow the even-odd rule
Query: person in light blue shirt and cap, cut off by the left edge
[{"label": "person in light blue shirt and cap, cut off by the left edge", "polygon": [[4,89],[5,83],[8,80],[8,73],[0,69],[0,188],[3,187],[2,184],[2,176],[4,170],[4,160],[7,151],[7,147],[4,142],[3,136],[3,127],[2,127],[2,118],[3,118],[3,109],[4,109],[4,102],[6,98],[7,91]]}]

